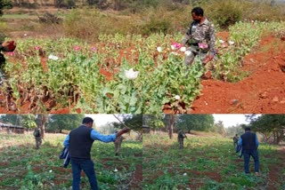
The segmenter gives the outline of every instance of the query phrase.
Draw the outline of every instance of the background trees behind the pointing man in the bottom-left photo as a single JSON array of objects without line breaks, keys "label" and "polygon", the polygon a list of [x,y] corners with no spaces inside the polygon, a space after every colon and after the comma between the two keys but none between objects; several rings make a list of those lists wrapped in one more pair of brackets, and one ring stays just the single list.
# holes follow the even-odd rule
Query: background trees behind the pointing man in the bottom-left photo
[{"label": "background trees behind the pointing man in the bottom-left photo", "polygon": [[[59,133],[71,131],[82,123],[84,117],[85,115],[1,115],[0,120],[25,127],[27,131],[38,127],[45,136],[45,131]],[[142,139],[142,115],[118,115],[116,117],[118,122],[107,123],[102,127],[101,131],[104,134],[129,127],[137,133],[138,139]]]}]

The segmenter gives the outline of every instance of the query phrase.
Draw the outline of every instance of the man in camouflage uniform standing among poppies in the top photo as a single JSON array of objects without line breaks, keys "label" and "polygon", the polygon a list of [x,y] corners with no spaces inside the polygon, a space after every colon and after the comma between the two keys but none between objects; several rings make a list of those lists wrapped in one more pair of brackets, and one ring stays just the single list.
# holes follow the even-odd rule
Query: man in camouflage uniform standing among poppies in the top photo
[{"label": "man in camouflage uniform standing among poppies in the top photo", "polygon": [[200,7],[195,7],[191,11],[192,22],[183,37],[182,44],[188,46],[185,51],[185,64],[191,66],[198,55],[203,64],[214,58],[215,50],[215,28]]}]

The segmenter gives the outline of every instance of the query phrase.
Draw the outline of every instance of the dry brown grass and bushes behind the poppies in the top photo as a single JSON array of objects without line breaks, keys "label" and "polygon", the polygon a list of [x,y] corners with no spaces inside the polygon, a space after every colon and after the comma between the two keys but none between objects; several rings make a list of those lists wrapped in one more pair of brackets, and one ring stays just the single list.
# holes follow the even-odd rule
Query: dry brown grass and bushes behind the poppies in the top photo
[{"label": "dry brown grass and bushes behind the poppies in the top photo", "polygon": [[[14,6],[20,8],[16,11],[20,12],[19,14],[37,15],[38,22],[30,22],[31,24],[27,25],[35,32],[45,33],[47,28],[52,28],[54,35],[63,34],[93,42],[96,42],[102,34],[149,36],[152,33],[184,33],[191,22],[191,9],[194,6],[203,7],[205,16],[215,24],[216,32],[228,29],[242,20],[280,21],[285,18],[285,4],[272,4],[269,0],[2,0],[0,2],[2,4],[0,10]],[[58,9],[49,9],[48,6]],[[40,7],[41,11],[46,8],[46,12],[37,13],[37,8]],[[7,14],[9,12],[6,11]],[[11,11],[11,14],[14,12]],[[0,30],[6,33],[8,30],[20,30],[20,28],[7,27],[11,20],[5,18],[3,21]]]}]

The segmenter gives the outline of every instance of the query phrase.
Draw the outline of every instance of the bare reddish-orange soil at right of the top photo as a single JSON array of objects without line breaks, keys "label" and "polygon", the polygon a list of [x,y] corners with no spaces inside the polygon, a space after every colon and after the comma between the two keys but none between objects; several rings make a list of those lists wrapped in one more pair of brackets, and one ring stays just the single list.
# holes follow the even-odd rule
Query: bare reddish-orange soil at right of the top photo
[{"label": "bare reddish-orange soil at right of the top photo", "polygon": [[285,41],[268,36],[244,59],[249,76],[239,83],[202,81],[192,114],[285,113]]}]

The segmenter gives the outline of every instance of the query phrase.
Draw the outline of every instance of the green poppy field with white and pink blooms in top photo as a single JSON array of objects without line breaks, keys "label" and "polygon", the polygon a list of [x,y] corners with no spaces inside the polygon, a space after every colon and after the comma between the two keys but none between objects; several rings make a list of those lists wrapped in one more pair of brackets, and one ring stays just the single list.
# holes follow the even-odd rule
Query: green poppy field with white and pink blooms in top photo
[{"label": "green poppy field with white and pink blooms in top photo", "polygon": [[70,38],[20,39],[7,53],[2,107],[16,113],[190,113],[201,76],[236,82],[242,59],[262,36],[281,35],[283,22],[239,22],[229,41],[216,39],[216,60],[183,64],[182,34],[102,35],[96,43]]}]

